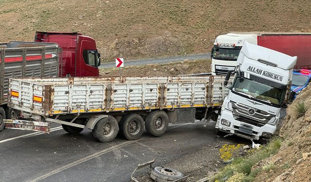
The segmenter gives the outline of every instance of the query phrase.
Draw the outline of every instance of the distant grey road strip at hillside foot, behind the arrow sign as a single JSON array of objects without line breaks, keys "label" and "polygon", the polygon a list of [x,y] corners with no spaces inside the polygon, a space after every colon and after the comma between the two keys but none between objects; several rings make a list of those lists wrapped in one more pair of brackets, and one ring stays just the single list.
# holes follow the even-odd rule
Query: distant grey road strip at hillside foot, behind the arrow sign
[{"label": "distant grey road strip at hillside foot, behind the arrow sign", "polygon": [[[169,62],[178,62],[184,60],[198,60],[198,59],[210,59],[210,53],[207,54],[191,54],[187,56],[179,56],[179,57],[166,57],[166,58],[150,58],[150,59],[141,59],[141,60],[126,60],[124,58],[124,66],[138,66],[138,65],[146,65],[146,64],[160,64],[160,63],[169,63]],[[115,62],[104,63],[101,68],[109,68],[116,67]]]}]

